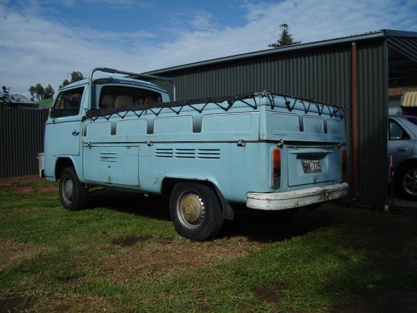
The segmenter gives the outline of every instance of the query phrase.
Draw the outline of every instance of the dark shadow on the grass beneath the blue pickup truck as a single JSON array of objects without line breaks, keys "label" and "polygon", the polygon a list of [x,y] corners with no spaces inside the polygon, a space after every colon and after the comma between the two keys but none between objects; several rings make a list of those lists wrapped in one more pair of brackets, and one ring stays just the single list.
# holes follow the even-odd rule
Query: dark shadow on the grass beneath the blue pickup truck
[{"label": "dark shadow on the grass beneath the blue pickup truck", "polygon": [[[170,220],[169,203],[161,197],[145,197],[135,192],[101,188],[92,191],[89,198],[87,209],[106,207],[128,214]],[[320,209],[297,209],[294,216],[286,218],[279,214],[247,209],[242,205],[235,205],[233,208],[234,220],[224,222],[220,238],[244,236],[250,241],[263,243],[284,241],[333,225],[337,221],[336,216]]]}]

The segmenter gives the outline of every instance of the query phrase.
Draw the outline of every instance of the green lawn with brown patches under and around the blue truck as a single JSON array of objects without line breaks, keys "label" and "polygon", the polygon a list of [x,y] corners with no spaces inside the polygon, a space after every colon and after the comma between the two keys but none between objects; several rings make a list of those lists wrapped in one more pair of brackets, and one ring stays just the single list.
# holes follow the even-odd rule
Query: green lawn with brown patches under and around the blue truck
[{"label": "green lawn with brown patches under and around the blue truck", "polygon": [[0,181],[0,312],[416,312],[417,209],[325,204],[286,221],[242,211],[219,239],[174,230],[167,205]]}]

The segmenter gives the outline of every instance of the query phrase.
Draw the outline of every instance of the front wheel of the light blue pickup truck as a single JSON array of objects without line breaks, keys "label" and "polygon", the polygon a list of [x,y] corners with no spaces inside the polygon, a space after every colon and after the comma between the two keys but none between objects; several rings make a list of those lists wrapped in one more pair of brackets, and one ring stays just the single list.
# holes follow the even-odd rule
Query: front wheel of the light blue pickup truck
[{"label": "front wheel of the light blue pickup truck", "polygon": [[88,189],[79,181],[74,168],[65,168],[59,179],[59,198],[70,211],[83,209]]}]

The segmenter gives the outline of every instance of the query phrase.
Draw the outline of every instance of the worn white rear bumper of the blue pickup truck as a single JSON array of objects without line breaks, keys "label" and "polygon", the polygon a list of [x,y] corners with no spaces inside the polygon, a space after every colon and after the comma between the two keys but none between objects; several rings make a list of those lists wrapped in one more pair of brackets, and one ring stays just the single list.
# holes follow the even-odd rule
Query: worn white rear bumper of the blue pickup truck
[{"label": "worn white rear bumper of the blue pickup truck", "polygon": [[283,210],[339,199],[347,195],[349,184],[306,188],[284,193],[247,193],[246,206],[260,210]]}]

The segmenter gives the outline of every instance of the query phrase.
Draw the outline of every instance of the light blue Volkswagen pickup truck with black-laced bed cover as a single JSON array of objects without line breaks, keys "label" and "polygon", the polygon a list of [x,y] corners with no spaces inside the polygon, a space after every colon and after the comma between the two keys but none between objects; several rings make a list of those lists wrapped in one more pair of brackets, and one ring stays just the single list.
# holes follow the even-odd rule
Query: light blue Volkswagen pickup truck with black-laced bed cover
[{"label": "light blue Volkswagen pickup truck with black-laced bed cover", "polygon": [[94,186],[165,195],[177,232],[201,241],[231,204],[288,210],[347,194],[343,109],[266,91],[170,102],[158,80],[171,81],[100,67],[59,90],[44,175],[59,179],[63,207],[81,209]]}]

